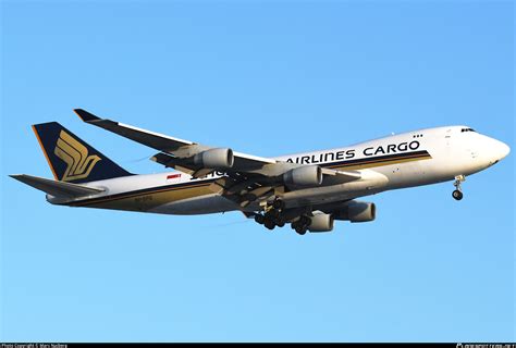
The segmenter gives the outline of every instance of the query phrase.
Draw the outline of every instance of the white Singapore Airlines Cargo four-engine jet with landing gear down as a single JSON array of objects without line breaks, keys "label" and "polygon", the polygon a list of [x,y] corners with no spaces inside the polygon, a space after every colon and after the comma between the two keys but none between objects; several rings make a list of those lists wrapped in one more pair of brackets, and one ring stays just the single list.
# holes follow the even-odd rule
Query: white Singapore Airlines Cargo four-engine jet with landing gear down
[{"label": "white Singapore Airlines Cargo four-engine jet with landing gear down", "polygon": [[459,125],[261,158],[75,112],[87,124],[158,150],[151,160],[175,171],[132,174],[59,123],[37,124],[54,181],[11,176],[45,191],[49,202],[161,214],[242,211],[269,229],[291,224],[300,235],[330,232],[335,220],[373,221],[374,203],[357,199],[385,190],[454,181],[453,198],[460,200],[467,175],[509,153],[507,145]]}]

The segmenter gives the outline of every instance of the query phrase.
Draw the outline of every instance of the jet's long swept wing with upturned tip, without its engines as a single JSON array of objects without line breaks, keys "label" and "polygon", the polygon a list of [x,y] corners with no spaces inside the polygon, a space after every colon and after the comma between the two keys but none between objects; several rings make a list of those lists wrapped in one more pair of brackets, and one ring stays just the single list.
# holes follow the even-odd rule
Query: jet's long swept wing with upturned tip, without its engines
[{"label": "jet's long swept wing with upturned tip, without its engines", "polygon": [[[242,207],[256,200],[267,200],[277,192],[284,191],[282,175],[292,169],[303,166],[303,164],[233,152],[231,149],[212,148],[145,130],[116,121],[97,117],[83,109],[75,109],[74,111],[81,120],[88,124],[159,150],[160,152],[155,154],[151,160],[165,167],[173,167],[194,177],[204,177],[216,171],[224,173],[223,177],[212,184],[211,189],[238,202]],[[199,156],[210,151],[219,151],[218,154],[231,151],[233,162],[231,165],[217,167],[206,165],[206,161],[198,160]],[[346,183],[361,178],[358,171],[335,171],[331,169],[321,169],[321,171],[322,175],[331,183]]]}]

